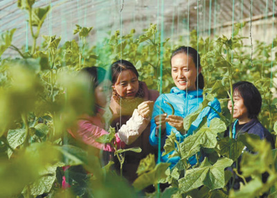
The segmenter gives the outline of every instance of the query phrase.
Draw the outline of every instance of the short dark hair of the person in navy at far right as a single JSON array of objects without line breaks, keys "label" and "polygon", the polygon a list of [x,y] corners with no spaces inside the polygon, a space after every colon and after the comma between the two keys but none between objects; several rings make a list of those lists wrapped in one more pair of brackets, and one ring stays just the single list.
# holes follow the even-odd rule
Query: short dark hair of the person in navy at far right
[{"label": "short dark hair of the person in navy at far right", "polygon": [[262,97],[260,92],[251,82],[240,81],[233,84],[233,92],[238,92],[247,107],[248,117],[257,118],[262,107]]}]

